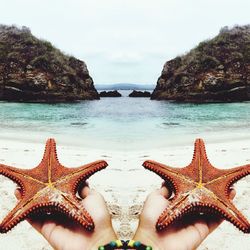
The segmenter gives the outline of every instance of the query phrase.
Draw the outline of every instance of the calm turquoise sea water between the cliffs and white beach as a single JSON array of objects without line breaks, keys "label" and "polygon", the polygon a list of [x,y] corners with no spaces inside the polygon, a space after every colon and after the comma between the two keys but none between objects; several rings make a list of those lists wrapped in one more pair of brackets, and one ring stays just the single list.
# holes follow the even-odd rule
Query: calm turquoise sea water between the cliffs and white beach
[{"label": "calm turquoise sea water between the cliffs and white beach", "polygon": [[102,98],[75,104],[0,102],[0,137],[55,137],[96,148],[134,149],[190,143],[196,137],[250,137],[250,102],[176,104],[148,98]]}]

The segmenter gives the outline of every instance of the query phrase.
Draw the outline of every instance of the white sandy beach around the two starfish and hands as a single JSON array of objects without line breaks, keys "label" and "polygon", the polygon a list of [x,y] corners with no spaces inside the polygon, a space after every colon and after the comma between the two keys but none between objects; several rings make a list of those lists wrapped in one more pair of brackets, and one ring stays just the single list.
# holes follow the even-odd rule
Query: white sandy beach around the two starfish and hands
[{"label": "white sandy beach around the two starfish and hands", "polygon": [[[23,168],[36,166],[42,157],[44,142],[36,140],[0,140],[0,163]],[[146,159],[167,163],[170,166],[186,166],[193,154],[193,142],[184,146],[143,149],[121,152],[110,149],[87,149],[75,146],[60,138],[57,140],[58,157],[65,166],[76,167],[84,163],[104,159],[109,163],[107,169],[96,173],[89,179],[90,187],[103,194],[117,234],[124,239],[133,237],[138,216],[146,196],[158,188],[162,180],[141,166]],[[230,168],[250,164],[250,140],[207,141],[207,154],[213,165]],[[0,219],[16,203],[16,185],[0,176]],[[240,180],[236,186],[234,203],[250,219],[250,176]],[[1,249],[6,250],[49,250],[48,243],[27,222],[18,224],[7,234],[0,235]],[[250,249],[250,237],[240,232],[228,222],[213,232],[198,248]]]}]

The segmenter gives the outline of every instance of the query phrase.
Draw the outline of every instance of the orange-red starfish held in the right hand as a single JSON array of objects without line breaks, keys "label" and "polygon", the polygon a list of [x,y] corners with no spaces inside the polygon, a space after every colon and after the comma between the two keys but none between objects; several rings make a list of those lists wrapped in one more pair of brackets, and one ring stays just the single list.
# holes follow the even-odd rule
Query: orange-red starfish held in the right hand
[{"label": "orange-red starfish held in the right hand", "polygon": [[229,199],[231,186],[250,174],[250,165],[231,169],[218,169],[207,158],[202,139],[195,141],[191,163],[184,168],[173,168],[154,161],[143,166],[161,176],[173,197],[162,212],[156,230],[162,231],[187,214],[216,214],[250,233],[250,223]]}]

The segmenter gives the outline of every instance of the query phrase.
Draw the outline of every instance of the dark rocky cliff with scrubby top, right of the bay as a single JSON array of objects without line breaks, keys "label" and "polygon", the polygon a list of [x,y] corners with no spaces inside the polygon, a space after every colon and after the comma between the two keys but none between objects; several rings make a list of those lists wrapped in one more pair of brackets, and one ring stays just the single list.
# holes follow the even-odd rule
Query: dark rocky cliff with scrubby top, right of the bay
[{"label": "dark rocky cliff with scrubby top, right of the bay", "polygon": [[166,62],[151,99],[250,100],[250,25],[224,27],[212,40]]}]

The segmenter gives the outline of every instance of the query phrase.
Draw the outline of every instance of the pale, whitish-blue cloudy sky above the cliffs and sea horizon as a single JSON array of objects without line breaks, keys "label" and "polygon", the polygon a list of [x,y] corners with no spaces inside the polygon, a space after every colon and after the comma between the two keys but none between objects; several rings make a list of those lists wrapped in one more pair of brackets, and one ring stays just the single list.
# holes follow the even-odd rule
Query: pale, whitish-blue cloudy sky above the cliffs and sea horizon
[{"label": "pale, whitish-blue cloudy sky above the cliffs and sea horizon", "polygon": [[0,23],[87,63],[95,83],[155,84],[163,64],[217,35],[250,24],[249,0],[0,0]]}]

